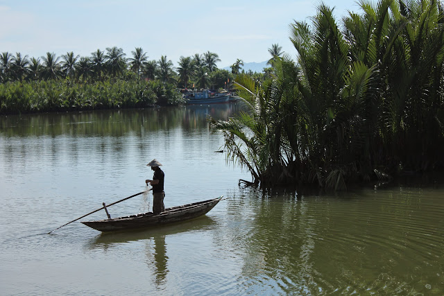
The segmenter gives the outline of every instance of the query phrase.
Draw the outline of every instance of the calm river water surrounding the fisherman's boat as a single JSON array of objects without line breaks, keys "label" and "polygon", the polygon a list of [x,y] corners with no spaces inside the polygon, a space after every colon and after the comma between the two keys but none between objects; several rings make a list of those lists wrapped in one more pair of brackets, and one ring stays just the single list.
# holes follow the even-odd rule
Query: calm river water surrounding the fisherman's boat
[{"label": "calm river water surrounding the fisherman's boat", "polygon": [[[0,295],[443,295],[443,182],[334,195],[238,186],[207,114],[239,103],[0,117]],[[101,234],[75,218],[145,189],[165,207],[224,195],[206,216]],[[112,217],[152,207],[147,193]],[[98,211],[81,220],[105,218]]]}]

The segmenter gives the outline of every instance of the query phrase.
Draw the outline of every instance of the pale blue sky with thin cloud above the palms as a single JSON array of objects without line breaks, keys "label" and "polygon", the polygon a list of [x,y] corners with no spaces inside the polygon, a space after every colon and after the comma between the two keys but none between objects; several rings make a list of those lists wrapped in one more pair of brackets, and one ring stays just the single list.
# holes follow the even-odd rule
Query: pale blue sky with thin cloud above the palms
[{"label": "pale blue sky with thin cloud above the palms", "polygon": [[[175,66],[180,56],[211,51],[219,68],[239,58],[264,62],[272,44],[296,58],[289,26],[316,15],[320,1],[305,0],[0,0],[0,53],[39,58],[117,46],[132,56],[142,47],[148,60],[166,55]],[[356,0],[325,0],[339,21]]]}]

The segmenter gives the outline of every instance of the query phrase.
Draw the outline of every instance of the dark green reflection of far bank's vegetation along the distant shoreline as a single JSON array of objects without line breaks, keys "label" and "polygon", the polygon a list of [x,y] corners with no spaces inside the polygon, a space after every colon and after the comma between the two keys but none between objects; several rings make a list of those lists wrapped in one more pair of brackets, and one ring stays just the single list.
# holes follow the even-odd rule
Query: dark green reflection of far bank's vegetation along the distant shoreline
[{"label": "dark green reflection of far bank's vegetation along the distant shoreline", "polygon": [[178,127],[184,131],[208,128],[207,116],[228,119],[240,110],[246,110],[246,106],[230,103],[141,110],[10,115],[0,116],[0,131],[3,137],[123,137],[129,133],[143,137],[148,132],[168,131]]}]

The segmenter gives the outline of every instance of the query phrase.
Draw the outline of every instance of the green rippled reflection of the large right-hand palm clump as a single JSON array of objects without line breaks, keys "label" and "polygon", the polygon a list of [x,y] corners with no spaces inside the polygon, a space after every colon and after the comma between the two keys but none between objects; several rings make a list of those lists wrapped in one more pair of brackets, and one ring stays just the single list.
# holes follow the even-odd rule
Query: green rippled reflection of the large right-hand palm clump
[{"label": "green rippled reflection of the large right-hand palm clump", "polygon": [[246,251],[239,252],[246,291],[266,282],[261,293],[441,294],[444,200],[437,197],[443,193],[405,187],[336,197],[246,191],[230,200],[227,218],[246,223],[230,225],[221,239],[248,237],[239,246]]}]

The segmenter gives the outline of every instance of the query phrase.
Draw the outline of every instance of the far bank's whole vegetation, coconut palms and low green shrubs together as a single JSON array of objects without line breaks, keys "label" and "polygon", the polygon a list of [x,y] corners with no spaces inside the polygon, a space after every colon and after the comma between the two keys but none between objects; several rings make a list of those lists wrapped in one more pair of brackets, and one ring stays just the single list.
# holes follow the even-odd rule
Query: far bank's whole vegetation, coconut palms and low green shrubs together
[{"label": "far bank's whole vegetation, coconut palms and low green shrubs together", "polygon": [[125,56],[116,46],[81,58],[73,52],[46,53],[42,60],[3,52],[0,114],[176,105],[183,102],[178,88],[226,88],[234,78],[217,69],[219,55],[210,51],[181,57],[177,69],[164,55],[148,60],[142,48]]}]

